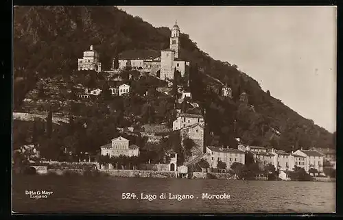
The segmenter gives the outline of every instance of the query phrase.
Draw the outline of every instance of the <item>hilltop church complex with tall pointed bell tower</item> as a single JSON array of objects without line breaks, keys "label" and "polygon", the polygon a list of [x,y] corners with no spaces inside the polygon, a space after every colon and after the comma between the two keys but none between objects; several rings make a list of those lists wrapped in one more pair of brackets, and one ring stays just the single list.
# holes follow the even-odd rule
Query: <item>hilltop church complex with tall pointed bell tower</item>
[{"label": "hilltop church complex with tall pointed bell tower", "polygon": [[[156,58],[119,58],[119,69],[137,69],[156,75],[161,80],[172,80],[174,69],[183,77],[189,69],[189,62],[180,59],[180,27],[177,23],[171,29],[169,49],[161,51],[161,56]],[[114,66],[115,60],[113,60]]]}]

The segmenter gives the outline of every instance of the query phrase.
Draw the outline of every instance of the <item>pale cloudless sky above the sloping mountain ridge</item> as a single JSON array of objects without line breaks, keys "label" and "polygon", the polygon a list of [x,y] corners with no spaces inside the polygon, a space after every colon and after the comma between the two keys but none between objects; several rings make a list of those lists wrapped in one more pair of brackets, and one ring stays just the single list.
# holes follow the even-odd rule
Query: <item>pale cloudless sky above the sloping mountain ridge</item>
[{"label": "pale cloudless sky above the sloping mountain ridge", "polygon": [[336,130],[336,8],[119,6],[173,27],[215,60],[236,64],[300,115]]}]

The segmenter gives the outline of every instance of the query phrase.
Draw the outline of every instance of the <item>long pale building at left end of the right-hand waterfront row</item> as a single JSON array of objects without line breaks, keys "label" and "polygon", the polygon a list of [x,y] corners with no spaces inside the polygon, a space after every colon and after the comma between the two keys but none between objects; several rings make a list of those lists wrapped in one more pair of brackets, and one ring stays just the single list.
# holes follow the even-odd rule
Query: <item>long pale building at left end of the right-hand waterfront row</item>
[{"label": "long pale building at left end of the right-hand waterfront row", "polygon": [[230,169],[234,162],[245,164],[246,161],[244,151],[239,149],[209,146],[206,147],[206,153],[211,168],[217,168],[218,161],[225,162],[226,169]]}]

